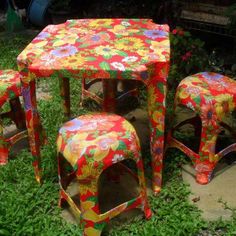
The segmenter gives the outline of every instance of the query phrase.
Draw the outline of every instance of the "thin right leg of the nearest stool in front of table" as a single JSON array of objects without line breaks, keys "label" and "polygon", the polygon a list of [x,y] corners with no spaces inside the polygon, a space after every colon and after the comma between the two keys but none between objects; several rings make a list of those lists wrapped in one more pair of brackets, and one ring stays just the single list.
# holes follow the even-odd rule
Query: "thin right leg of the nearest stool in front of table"
[{"label": "thin right leg of the nearest stool in front of table", "polygon": [[138,179],[139,179],[139,186],[140,186],[140,194],[143,199],[143,211],[146,219],[150,219],[152,216],[152,211],[150,209],[150,206],[148,204],[147,199],[147,188],[146,188],[146,181],[144,177],[144,169],[143,169],[143,162],[141,157],[139,158],[137,162],[137,172],[138,172]]}]

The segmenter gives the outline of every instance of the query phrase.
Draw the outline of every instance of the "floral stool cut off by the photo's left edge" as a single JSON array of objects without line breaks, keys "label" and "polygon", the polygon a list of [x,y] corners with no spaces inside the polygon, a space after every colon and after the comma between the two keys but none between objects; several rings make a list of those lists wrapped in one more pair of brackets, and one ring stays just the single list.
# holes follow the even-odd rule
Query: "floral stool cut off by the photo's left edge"
[{"label": "floral stool cut off by the photo's left edge", "polygon": [[[10,111],[1,113],[0,119],[0,165],[8,162],[8,153],[13,144],[22,138],[27,137],[25,130],[24,111],[21,108],[19,96],[21,96],[20,75],[13,70],[0,70],[0,108],[10,103]],[[24,131],[18,132],[11,137],[4,137],[2,119],[8,117],[14,121],[16,127]]]}]

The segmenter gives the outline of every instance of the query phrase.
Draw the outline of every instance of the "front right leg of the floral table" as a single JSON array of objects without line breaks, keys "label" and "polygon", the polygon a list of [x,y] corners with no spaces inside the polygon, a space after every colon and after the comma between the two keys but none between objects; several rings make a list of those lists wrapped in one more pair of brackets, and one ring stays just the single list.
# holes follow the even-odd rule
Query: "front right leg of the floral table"
[{"label": "front right leg of the floral table", "polygon": [[164,154],[164,129],[166,112],[166,84],[152,82],[148,86],[148,113],[151,124],[152,187],[158,194],[162,185],[162,168]]}]

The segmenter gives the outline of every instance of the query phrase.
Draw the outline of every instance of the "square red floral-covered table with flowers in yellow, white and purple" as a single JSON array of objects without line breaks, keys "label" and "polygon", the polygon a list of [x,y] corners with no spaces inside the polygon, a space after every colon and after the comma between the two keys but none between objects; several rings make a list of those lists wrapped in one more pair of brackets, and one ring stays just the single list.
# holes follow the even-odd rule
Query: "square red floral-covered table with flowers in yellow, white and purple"
[{"label": "square red floral-covered table with flowers in yellow, white and purple", "polygon": [[[22,93],[40,181],[40,117],[35,78],[61,78],[64,111],[69,114],[68,78],[141,80],[148,93],[153,190],[162,182],[166,84],[169,70],[169,27],[150,19],[79,19],[48,25],[17,57]],[[108,93],[109,97],[109,93]],[[112,101],[107,111],[112,110]]]}]

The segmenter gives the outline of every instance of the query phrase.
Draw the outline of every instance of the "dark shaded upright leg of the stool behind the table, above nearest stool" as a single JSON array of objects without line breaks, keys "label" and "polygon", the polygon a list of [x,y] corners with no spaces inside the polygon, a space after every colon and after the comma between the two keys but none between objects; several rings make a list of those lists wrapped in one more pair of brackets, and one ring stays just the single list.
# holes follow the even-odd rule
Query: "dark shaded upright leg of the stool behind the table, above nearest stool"
[{"label": "dark shaded upright leg of the stool behind the table, above nearest stool", "polygon": [[104,79],[103,86],[103,111],[115,112],[116,111],[116,90],[117,81],[112,79]]}]

